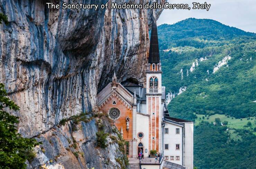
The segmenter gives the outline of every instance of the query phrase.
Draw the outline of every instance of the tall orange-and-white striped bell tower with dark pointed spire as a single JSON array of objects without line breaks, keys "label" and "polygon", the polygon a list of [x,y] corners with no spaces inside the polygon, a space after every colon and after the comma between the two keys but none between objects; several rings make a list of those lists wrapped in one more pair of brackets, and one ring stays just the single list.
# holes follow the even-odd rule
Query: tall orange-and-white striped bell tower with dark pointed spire
[{"label": "tall orange-and-white striped bell tower with dark pointed spire", "polygon": [[162,71],[161,61],[159,59],[155,9],[153,9],[152,16],[152,28],[146,76],[146,104],[147,113],[149,114],[149,150],[155,149],[157,152],[162,152]]}]

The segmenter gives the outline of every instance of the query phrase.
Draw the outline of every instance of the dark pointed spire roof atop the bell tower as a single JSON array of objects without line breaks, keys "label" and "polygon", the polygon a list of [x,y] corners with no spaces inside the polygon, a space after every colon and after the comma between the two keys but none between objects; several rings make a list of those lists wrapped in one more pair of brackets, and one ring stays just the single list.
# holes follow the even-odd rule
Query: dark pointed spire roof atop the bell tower
[{"label": "dark pointed spire roof atop the bell tower", "polygon": [[159,59],[158,36],[157,36],[157,27],[156,27],[156,13],[155,13],[155,9],[153,9],[148,63],[157,64],[159,63],[159,60],[160,59]]}]

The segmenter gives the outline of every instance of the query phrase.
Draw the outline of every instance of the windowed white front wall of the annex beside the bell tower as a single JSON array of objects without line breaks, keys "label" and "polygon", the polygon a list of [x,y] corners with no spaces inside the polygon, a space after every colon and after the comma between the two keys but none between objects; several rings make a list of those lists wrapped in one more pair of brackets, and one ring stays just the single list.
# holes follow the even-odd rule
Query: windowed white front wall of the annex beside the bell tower
[{"label": "windowed white front wall of the annex beside the bell tower", "polygon": [[[165,123],[164,128],[168,128],[169,130],[169,134],[164,134],[164,160],[165,156],[168,156],[167,161],[182,165],[182,127],[170,123]],[[176,128],[180,129],[180,134],[176,134]],[[168,150],[165,149],[165,144],[169,144]],[[176,144],[180,144],[180,150],[176,150]],[[170,160],[170,156],[174,156],[174,160]],[[180,156],[180,160],[176,160],[176,156]]]}]

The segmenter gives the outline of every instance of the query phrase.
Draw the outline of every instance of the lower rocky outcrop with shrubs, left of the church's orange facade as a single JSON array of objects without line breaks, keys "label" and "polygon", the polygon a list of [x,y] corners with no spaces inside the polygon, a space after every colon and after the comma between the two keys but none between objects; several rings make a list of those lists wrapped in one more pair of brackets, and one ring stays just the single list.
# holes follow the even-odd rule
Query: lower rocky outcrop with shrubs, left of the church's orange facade
[{"label": "lower rocky outcrop with shrubs, left of the church's orange facade", "polygon": [[[81,119],[76,117],[38,135],[36,139],[43,144],[35,148],[36,157],[27,162],[28,168],[116,169],[126,166],[124,147],[106,118],[88,114]],[[103,125],[101,129],[100,125]],[[95,148],[98,131],[109,134],[106,148]]]}]

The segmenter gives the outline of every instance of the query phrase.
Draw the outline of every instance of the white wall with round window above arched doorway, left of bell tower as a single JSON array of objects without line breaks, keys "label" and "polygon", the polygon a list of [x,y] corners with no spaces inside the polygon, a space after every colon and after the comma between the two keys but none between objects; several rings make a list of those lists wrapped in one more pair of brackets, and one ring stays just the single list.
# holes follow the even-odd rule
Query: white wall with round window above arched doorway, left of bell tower
[{"label": "white wall with round window above arched doorway, left of bell tower", "polygon": [[[148,120],[149,117],[141,114],[136,114],[136,139],[137,139],[137,146],[141,142],[144,146],[144,157],[148,157],[149,149],[148,149]],[[144,134],[143,138],[138,138],[138,133],[142,132]],[[136,146],[136,154],[138,154],[138,149]],[[147,152],[145,152],[145,149],[147,149]]]}]

